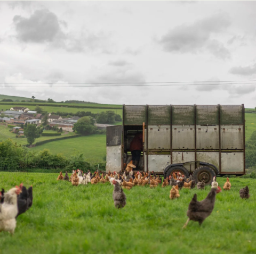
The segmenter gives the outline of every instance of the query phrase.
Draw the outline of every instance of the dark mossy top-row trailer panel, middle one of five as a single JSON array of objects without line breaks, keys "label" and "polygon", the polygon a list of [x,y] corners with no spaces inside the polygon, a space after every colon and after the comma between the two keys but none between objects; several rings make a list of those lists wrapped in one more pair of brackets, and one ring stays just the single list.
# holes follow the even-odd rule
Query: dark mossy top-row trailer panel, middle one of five
[{"label": "dark mossy top-row trailer panel, middle one of five", "polygon": [[195,124],[195,106],[172,105],[172,125]]}]

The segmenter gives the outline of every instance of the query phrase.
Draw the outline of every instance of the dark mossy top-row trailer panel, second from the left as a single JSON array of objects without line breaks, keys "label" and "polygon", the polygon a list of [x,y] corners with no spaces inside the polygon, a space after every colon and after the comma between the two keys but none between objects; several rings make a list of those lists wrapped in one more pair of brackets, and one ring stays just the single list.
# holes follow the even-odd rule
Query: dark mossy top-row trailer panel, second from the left
[{"label": "dark mossy top-row trailer panel, second from the left", "polygon": [[148,125],[169,125],[171,105],[148,105]]}]

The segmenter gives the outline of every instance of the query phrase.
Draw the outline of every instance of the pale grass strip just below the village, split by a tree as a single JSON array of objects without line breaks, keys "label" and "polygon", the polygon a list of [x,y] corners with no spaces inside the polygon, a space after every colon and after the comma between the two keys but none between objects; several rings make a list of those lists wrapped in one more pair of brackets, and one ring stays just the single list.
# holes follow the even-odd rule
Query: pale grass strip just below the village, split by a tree
[{"label": "pale grass strip just below the village, split by a tree", "polygon": [[[64,132],[63,132],[64,133]],[[62,137],[67,137],[67,136],[74,136],[75,133],[74,132],[69,132],[68,134],[65,134],[65,136],[61,135],[61,136],[50,136],[50,137],[40,137],[38,139],[35,140],[35,142],[39,142],[39,141],[43,141],[43,140],[48,140],[48,139],[58,139],[58,138],[62,138]],[[17,142],[18,145],[27,145],[27,139],[25,138],[15,138],[16,134],[12,133],[9,131],[9,128],[6,128],[5,125],[0,125],[0,142],[4,141],[6,139],[11,138],[14,142]]]}]

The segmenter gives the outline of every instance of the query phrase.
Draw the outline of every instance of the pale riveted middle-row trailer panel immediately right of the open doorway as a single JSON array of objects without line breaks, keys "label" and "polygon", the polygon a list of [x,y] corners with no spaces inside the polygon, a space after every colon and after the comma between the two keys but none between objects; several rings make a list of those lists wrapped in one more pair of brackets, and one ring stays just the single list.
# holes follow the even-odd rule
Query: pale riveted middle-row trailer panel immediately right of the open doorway
[{"label": "pale riveted middle-row trailer panel immediately right of the open doorway", "polygon": [[149,125],[147,130],[148,149],[171,148],[171,125]]}]

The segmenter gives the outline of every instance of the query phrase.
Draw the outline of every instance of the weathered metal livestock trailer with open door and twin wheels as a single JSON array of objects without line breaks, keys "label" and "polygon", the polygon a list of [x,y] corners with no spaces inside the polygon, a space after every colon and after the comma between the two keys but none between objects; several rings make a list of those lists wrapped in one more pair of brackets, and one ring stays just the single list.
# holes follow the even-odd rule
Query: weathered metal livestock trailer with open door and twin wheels
[{"label": "weathered metal livestock trailer with open door and twin wheels", "polygon": [[135,170],[169,176],[245,174],[244,105],[123,105],[123,124],[107,127],[106,170],[124,170],[130,143],[143,133]]}]

